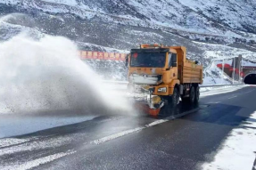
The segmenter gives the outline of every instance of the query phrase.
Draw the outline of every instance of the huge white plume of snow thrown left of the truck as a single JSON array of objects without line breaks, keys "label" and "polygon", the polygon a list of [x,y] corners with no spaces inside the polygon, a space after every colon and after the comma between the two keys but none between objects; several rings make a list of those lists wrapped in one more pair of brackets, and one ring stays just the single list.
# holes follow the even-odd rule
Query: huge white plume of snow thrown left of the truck
[{"label": "huge white plume of snow thrown left of the truck", "polygon": [[49,110],[103,114],[129,108],[79,60],[77,46],[60,36],[35,40],[20,34],[1,43],[0,78],[0,114]]}]

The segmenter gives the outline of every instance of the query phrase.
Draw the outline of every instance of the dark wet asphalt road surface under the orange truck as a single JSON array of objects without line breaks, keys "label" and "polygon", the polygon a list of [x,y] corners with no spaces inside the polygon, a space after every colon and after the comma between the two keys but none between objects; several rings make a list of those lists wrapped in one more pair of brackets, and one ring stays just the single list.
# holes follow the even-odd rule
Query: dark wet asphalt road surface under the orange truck
[{"label": "dark wet asphalt road surface under the orange truck", "polygon": [[[22,135],[18,138],[26,141],[0,148],[0,165],[6,169],[21,167],[18,164],[63,170],[200,169],[202,163],[213,160],[230,131],[256,110],[255,101],[256,87],[247,86],[210,96],[202,93],[199,106],[180,103],[171,116],[187,114],[173,120],[103,116]],[[162,119],[169,121],[161,123]],[[58,154],[63,156],[54,159]],[[29,166],[35,162],[44,164]]]}]

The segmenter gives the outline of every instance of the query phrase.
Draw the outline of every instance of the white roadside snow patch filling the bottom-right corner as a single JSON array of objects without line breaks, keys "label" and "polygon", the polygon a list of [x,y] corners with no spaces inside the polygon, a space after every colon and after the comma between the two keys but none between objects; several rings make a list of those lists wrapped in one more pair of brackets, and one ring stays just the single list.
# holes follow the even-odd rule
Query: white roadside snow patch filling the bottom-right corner
[{"label": "white roadside snow patch filling the bottom-right corner", "polygon": [[202,165],[203,170],[252,170],[256,153],[256,111],[222,143],[211,163]]}]

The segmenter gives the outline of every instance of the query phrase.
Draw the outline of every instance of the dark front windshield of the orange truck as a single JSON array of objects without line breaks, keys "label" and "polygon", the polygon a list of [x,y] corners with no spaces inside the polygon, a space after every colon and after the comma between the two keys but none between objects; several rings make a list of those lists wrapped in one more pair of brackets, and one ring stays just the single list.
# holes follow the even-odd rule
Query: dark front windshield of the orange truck
[{"label": "dark front windshield of the orange truck", "polygon": [[131,67],[163,68],[166,53],[131,53]]}]

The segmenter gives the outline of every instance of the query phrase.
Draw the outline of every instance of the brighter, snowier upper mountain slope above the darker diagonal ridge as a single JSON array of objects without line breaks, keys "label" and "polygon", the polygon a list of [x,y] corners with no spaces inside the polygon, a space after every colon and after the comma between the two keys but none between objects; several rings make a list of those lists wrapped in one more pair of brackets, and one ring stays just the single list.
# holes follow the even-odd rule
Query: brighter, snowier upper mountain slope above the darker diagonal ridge
[{"label": "brighter, snowier upper mountain slope above the darker diagonal ridge", "polygon": [[82,18],[120,17],[128,22],[136,20],[203,34],[242,37],[246,32],[256,33],[254,0],[3,0],[2,3],[43,12],[70,12]]}]

